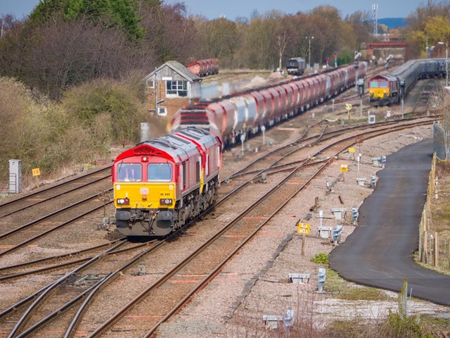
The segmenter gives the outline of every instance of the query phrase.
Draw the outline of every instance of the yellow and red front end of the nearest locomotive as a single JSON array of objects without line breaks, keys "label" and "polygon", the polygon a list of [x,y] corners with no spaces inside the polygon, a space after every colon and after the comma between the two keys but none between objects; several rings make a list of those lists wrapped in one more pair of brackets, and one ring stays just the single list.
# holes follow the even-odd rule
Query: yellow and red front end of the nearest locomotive
[{"label": "yellow and red front end of the nearest locomotive", "polygon": [[174,227],[174,163],[131,156],[113,165],[117,230],[127,236],[165,236]]}]

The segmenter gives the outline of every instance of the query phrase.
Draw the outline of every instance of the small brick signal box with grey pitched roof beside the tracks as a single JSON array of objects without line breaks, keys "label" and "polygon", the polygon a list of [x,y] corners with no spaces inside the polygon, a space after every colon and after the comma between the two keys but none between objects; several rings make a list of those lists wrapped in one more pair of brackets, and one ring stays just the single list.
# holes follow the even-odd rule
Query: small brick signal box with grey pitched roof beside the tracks
[{"label": "small brick signal box with grey pitched roof beside the tracks", "polygon": [[144,80],[148,111],[170,123],[182,106],[200,99],[201,78],[177,61],[167,61]]}]

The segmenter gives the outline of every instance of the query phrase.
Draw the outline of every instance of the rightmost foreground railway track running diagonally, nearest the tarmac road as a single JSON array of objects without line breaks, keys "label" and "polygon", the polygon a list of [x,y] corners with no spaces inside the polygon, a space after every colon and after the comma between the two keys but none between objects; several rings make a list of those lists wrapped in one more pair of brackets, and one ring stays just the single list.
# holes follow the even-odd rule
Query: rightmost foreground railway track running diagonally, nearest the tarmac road
[{"label": "rightmost foreground railway track running diagonally, nearest the tarmac road", "polygon": [[[401,128],[410,128],[423,123],[411,123]],[[430,121],[425,123],[430,123]],[[376,137],[380,134],[393,132],[398,129],[399,127],[386,126],[384,130],[372,131],[371,135],[366,137]],[[148,283],[150,287],[142,289],[134,299],[120,307],[120,310],[115,315],[107,320],[105,318],[101,318],[101,320],[99,318],[96,320],[93,318],[86,320],[89,323],[93,320],[96,323],[101,321],[105,325],[98,327],[94,332],[89,330],[86,325],[82,325],[79,329],[80,332],[90,332],[89,337],[96,337],[98,334],[103,333],[110,335],[113,332],[130,332],[130,327],[136,327],[136,329],[133,329],[133,334],[139,337],[143,337],[144,334],[145,337],[149,337],[161,323],[164,323],[176,311],[179,311],[179,308],[184,306],[195,292],[205,287],[212,278],[217,276],[226,262],[236,255],[245,243],[255,237],[271,218],[276,217],[278,212],[288,203],[289,198],[286,196],[294,198],[298,192],[314,180],[314,177],[319,175],[324,168],[334,161],[335,156],[347,149],[348,146],[354,144],[354,142],[355,137],[352,136],[341,140],[339,145],[333,144],[332,142],[330,145],[322,148],[317,154],[330,151],[330,156],[327,156],[328,160],[319,169],[311,170],[311,167],[300,165],[288,177],[275,184],[276,186],[271,191],[271,194],[274,194],[274,196],[259,199],[251,206],[247,206],[244,211],[236,211],[236,213],[239,212],[236,218],[220,227],[206,241],[202,241],[203,244],[200,245],[198,250],[195,250],[191,255],[188,255],[181,262],[177,263],[172,270],[169,270],[158,279],[152,278],[153,282]],[[309,168],[307,169],[308,173],[304,173],[304,168]],[[304,181],[300,184],[300,187],[298,184],[299,180]],[[245,196],[248,192],[243,192],[242,194]],[[234,192],[233,200],[239,200],[241,197],[236,196],[236,192]],[[276,203],[276,200],[281,200],[282,202]],[[261,204],[264,204],[264,206]],[[264,215],[264,220],[262,220],[261,215]],[[150,273],[150,275],[152,274],[159,274],[158,270]],[[181,292],[181,290],[184,291]],[[167,297],[168,294],[170,297]],[[146,299],[151,299],[151,301],[146,301]],[[139,329],[141,327],[140,325],[142,325],[142,318],[146,319],[146,326],[149,329]],[[150,327],[150,325],[153,326]]]}]

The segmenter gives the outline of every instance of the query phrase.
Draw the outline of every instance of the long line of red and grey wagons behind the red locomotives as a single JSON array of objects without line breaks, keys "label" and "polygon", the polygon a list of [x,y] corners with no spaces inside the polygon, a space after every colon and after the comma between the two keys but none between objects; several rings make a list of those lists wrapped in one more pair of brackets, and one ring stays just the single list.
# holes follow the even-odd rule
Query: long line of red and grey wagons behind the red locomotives
[{"label": "long line of red and grey wagons behind the red locomotives", "polygon": [[[309,77],[185,106],[172,119],[171,130],[195,126],[212,132],[224,146],[250,137],[339,94],[366,75],[367,63],[342,66]],[[357,75],[358,74],[358,75]]]}]

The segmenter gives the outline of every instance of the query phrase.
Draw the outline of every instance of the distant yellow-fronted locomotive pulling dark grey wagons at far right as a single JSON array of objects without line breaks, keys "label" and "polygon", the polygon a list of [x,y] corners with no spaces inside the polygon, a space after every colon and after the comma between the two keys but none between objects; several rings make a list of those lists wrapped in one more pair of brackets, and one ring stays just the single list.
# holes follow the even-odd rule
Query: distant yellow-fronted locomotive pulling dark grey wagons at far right
[{"label": "distant yellow-fronted locomotive pulling dark grey wagons at far right", "polygon": [[399,104],[420,79],[445,75],[445,59],[411,60],[392,73],[375,75],[368,81],[369,104],[388,106]]}]

